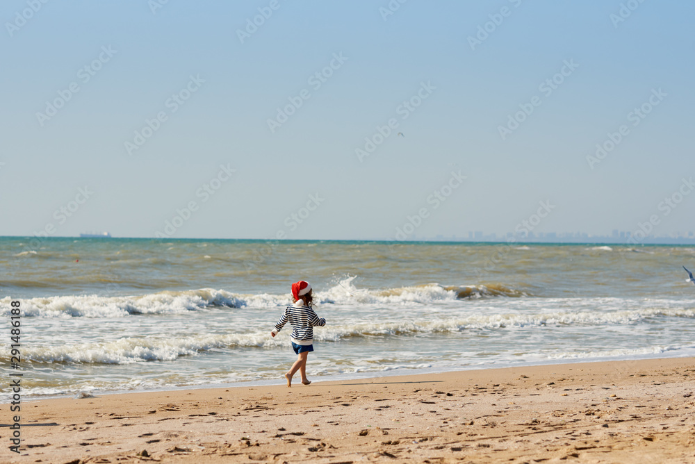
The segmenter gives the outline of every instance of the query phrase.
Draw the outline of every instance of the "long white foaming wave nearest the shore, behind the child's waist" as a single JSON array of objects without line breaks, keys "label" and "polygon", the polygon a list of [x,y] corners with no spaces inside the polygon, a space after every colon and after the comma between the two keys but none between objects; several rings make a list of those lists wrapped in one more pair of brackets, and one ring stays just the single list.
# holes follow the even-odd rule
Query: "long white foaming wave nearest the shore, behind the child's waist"
[{"label": "long white foaming wave nearest the shore, behind the child's waist", "polygon": [[[352,338],[409,337],[435,333],[518,329],[528,326],[605,326],[635,324],[655,317],[695,318],[695,310],[655,309],[622,310],[612,312],[582,311],[569,313],[502,313],[493,315],[465,315],[433,320],[420,317],[412,320],[392,320],[363,324],[327,325],[314,332],[318,342],[340,342]],[[289,330],[275,338],[268,331],[253,333],[208,333],[186,337],[126,337],[109,342],[92,342],[51,347],[24,349],[24,359],[33,363],[87,363],[127,364],[145,361],[174,361],[179,356],[192,356],[214,349],[236,347],[284,348],[289,342]],[[616,356],[620,353],[616,353]],[[568,356],[562,354],[557,356]],[[593,355],[591,355],[593,356]],[[587,357],[591,357],[587,354]],[[0,358],[9,361],[6,356]]]}]

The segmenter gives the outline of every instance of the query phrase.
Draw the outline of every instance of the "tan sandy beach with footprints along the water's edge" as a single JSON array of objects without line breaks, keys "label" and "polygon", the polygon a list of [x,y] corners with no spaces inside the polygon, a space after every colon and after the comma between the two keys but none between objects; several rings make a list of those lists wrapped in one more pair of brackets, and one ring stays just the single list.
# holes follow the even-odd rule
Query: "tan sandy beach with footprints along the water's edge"
[{"label": "tan sandy beach with footprints along the water's edge", "polygon": [[22,405],[22,454],[0,429],[0,461],[695,463],[694,374],[671,358],[48,399]]}]

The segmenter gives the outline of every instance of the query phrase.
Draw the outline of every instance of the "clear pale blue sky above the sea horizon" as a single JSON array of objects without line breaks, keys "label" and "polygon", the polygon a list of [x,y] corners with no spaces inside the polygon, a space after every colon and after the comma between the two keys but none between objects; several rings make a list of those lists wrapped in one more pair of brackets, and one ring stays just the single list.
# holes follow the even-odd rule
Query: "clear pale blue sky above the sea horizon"
[{"label": "clear pale blue sky above the sea horizon", "polygon": [[[388,16],[386,0],[154,3],[2,2],[0,235],[154,237],[173,221],[174,238],[393,238],[425,208],[417,237],[463,237],[513,231],[539,201],[554,206],[540,232],[635,231],[654,215],[654,233],[695,229],[691,1],[409,0]],[[272,15],[242,43],[259,8]],[[520,105],[533,112],[503,140]]]}]

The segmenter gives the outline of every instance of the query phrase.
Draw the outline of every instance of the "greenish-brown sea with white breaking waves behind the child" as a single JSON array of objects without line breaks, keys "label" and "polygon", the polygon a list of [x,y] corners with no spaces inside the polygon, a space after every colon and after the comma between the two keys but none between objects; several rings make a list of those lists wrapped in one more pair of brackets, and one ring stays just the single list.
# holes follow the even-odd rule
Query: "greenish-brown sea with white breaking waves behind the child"
[{"label": "greenish-brown sea with white breaking waves behind the child", "polygon": [[25,397],[283,383],[298,280],[327,321],[315,381],[695,356],[682,265],[694,248],[0,238],[0,358],[20,301]]}]

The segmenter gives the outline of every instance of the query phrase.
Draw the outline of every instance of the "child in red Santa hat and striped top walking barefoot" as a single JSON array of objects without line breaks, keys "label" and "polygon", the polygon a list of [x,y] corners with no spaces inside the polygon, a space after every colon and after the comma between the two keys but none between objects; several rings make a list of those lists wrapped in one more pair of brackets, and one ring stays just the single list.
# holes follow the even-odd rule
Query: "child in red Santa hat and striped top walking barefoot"
[{"label": "child in red Santa hat and striped top walking barefoot", "polygon": [[285,374],[287,386],[292,386],[292,376],[297,371],[302,374],[302,383],[309,385],[311,381],[306,379],[306,357],[309,351],[313,351],[313,328],[325,326],[326,320],[318,317],[311,308],[313,298],[311,296],[311,285],[306,281],[299,281],[292,284],[292,299],[294,304],[285,308],[284,313],[275,324],[275,330],[270,335],[275,337],[284,327],[286,322],[292,325],[292,349],[297,354],[297,361],[292,368]]}]

